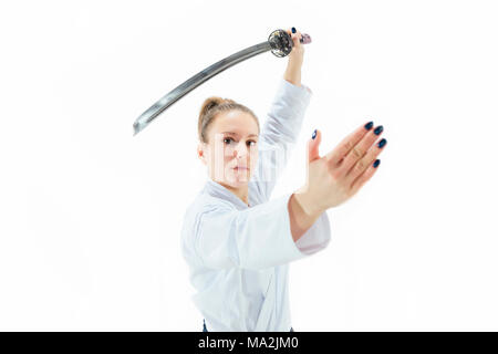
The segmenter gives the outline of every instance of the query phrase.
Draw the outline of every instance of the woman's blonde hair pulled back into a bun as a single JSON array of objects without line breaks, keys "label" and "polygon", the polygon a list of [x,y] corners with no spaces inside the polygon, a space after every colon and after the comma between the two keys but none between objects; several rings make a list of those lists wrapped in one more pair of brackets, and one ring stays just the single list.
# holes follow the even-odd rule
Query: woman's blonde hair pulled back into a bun
[{"label": "woman's blonde hair pulled back into a bun", "polygon": [[197,124],[197,131],[199,134],[200,142],[207,143],[207,129],[209,125],[215,121],[218,113],[230,112],[235,110],[250,114],[258,124],[259,131],[258,117],[251,110],[246,107],[243,104],[235,102],[234,100],[211,96],[204,101],[199,113],[199,122]]}]

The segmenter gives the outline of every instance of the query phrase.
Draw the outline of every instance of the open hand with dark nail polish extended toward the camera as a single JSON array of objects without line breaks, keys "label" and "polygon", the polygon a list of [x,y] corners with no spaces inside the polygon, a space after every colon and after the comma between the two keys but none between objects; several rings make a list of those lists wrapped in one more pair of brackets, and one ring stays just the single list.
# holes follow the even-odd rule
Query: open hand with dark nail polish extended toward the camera
[{"label": "open hand with dark nail polish extended toward the camera", "polygon": [[376,171],[373,164],[383,150],[376,144],[372,146],[378,137],[374,131],[380,135],[383,127],[366,129],[362,125],[323,157],[319,155],[320,131],[308,142],[308,183],[294,194],[308,215],[317,216],[343,204],[372,178]]}]

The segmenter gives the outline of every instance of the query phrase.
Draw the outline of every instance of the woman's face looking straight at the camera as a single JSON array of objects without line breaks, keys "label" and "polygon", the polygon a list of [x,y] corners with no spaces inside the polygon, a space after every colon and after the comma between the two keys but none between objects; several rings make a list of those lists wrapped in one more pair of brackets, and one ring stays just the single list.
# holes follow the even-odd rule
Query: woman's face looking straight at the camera
[{"label": "woman's face looking straight at the camera", "polygon": [[231,188],[246,187],[258,163],[258,135],[252,115],[240,111],[218,114],[208,126],[207,143],[198,147],[209,177]]}]

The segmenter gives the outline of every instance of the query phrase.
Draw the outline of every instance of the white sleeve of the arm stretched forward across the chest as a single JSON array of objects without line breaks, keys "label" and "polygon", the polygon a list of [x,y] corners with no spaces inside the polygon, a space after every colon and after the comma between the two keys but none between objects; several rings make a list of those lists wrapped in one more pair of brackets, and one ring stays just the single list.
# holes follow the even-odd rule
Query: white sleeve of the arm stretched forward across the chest
[{"label": "white sleeve of the arm stretched forward across the chest", "polygon": [[200,263],[212,269],[261,270],[324,248],[330,239],[326,214],[301,237],[299,244],[293,241],[288,211],[290,196],[243,210],[224,204],[206,207],[198,216],[194,235]]}]

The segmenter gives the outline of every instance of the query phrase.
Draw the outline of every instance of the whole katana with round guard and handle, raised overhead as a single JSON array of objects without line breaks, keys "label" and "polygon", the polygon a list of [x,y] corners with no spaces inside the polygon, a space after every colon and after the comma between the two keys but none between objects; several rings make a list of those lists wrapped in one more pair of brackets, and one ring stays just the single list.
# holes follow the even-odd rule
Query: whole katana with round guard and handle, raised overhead
[{"label": "whole katana with round guard and handle, raised overhead", "polygon": [[[311,43],[311,37],[302,33],[299,41],[303,44]],[[163,98],[152,105],[151,108],[142,113],[142,115],[136,118],[135,123],[133,123],[133,128],[135,132],[134,135],[142,132],[153,119],[170,107],[179,98],[224,70],[268,51],[271,51],[271,53],[278,58],[287,56],[292,51],[293,45],[294,43],[292,38],[286,30],[276,30],[271,32],[267,41],[241,50],[206,67],[174,88],[172,92],[167,93],[163,96]]]}]

